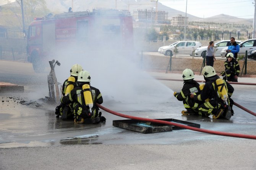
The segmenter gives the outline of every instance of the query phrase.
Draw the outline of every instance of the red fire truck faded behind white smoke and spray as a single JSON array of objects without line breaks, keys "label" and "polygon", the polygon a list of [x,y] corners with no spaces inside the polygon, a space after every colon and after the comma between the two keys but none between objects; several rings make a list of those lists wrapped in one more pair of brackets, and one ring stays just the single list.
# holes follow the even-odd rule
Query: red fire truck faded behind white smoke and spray
[{"label": "red fire truck faded behind white smoke and spray", "polygon": [[[128,11],[93,10],[35,18],[28,30],[28,61],[40,72],[58,53],[133,49],[133,19]],[[114,48],[113,48],[114,47]]]}]

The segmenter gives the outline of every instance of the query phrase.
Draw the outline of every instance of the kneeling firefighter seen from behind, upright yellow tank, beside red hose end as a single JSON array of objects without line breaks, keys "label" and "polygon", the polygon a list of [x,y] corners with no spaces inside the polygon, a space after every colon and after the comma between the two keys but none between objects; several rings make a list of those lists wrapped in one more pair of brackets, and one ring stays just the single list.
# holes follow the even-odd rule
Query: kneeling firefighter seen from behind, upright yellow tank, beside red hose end
[{"label": "kneeling firefighter seen from behind, upright yellow tank, beside red hose end", "polygon": [[105,117],[101,116],[99,107],[95,104],[102,104],[103,98],[99,89],[90,86],[91,77],[88,71],[81,71],[78,74],[77,84],[67,96],[63,96],[60,102],[63,104],[72,103],[75,123],[97,123],[105,122]]}]

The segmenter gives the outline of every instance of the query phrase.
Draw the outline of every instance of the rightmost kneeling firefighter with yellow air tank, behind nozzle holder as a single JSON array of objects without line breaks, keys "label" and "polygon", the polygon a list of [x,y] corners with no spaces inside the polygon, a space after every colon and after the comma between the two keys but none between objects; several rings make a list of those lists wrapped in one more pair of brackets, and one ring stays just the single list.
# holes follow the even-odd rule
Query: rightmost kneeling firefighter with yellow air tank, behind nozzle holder
[{"label": "rightmost kneeling firefighter with yellow air tank, behind nozzle holder", "polygon": [[233,101],[230,99],[234,88],[225,80],[220,79],[212,66],[203,68],[206,83],[199,95],[190,95],[196,101],[204,101],[198,106],[199,114],[213,115],[213,119],[230,119],[233,115]]}]

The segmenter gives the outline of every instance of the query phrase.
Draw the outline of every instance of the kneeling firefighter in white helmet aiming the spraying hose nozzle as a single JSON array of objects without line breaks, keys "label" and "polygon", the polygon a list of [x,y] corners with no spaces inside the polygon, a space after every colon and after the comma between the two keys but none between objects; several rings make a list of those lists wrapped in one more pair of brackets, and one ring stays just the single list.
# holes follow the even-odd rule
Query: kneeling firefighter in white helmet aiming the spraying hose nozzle
[{"label": "kneeling firefighter in white helmet aiming the spraying hose nozzle", "polygon": [[190,98],[190,94],[199,94],[199,83],[194,80],[194,72],[191,69],[185,69],[182,73],[184,80],[183,88],[179,93],[176,91],[173,95],[179,100],[183,101],[186,111],[181,111],[183,115],[198,114],[198,102]]}]

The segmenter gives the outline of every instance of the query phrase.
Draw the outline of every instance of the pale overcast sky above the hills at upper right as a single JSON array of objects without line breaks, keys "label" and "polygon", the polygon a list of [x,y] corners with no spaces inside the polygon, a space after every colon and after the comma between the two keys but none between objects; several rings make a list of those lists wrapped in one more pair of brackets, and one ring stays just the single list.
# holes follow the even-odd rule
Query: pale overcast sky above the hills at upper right
[{"label": "pale overcast sky above the hills at upper right", "polygon": [[[188,0],[187,2],[187,13],[200,18],[219,14],[238,18],[254,17],[254,0]],[[159,0],[159,3],[186,12],[186,0]]]}]

